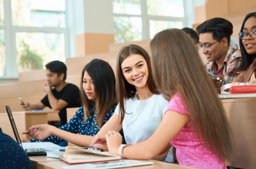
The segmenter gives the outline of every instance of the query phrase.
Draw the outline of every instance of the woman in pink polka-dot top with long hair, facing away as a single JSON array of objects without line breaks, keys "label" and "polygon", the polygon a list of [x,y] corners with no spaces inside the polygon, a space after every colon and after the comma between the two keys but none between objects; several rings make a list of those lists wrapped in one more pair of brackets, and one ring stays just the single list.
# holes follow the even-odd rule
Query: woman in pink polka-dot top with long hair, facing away
[{"label": "woman in pink polka-dot top with long hair, facing away", "polygon": [[172,143],[180,165],[226,168],[225,159],[232,154],[230,126],[191,40],[179,29],[166,29],[154,36],[150,48],[156,84],[170,100],[168,108],[143,142],[122,145],[122,136],[108,131],[108,150],[124,158],[152,159]]}]

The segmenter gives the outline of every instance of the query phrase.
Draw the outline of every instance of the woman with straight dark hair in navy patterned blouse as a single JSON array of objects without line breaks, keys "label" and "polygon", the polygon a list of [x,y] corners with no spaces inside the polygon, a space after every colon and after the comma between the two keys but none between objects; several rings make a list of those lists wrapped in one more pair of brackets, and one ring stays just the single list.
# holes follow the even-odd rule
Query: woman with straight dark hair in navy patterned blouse
[{"label": "woman with straight dark hair in navy patterned blouse", "polygon": [[[60,128],[48,124],[29,128],[29,135],[40,139],[31,139],[31,142],[60,143],[67,140],[82,147],[90,145],[92,142],[90,136],[96,135],[115,111],[117,104],[115,84],[115,74],[108,62],[100,59],[90,61],[84,66],[81,77],[83,106],[67,124]],[[84,140],[79,140],[79,137],[72,133],[88,136]]]}]

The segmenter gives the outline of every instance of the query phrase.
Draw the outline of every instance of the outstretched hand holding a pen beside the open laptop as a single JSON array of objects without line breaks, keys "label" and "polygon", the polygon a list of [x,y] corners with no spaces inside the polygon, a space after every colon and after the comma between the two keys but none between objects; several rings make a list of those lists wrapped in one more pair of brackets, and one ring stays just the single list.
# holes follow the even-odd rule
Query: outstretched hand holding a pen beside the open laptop
[{"label": "outstretched hand holding a pen beside the open laptop", "polygon": [[44,140],[48,136],[52,134],[52,130],[54,129],[54,126],[51,126],[49,124],[40,124],[36,126],[32,126],[29,128],[27,132],[23,132],[22,134],[28,134],[32,138],[36,138],[38,140]]}]

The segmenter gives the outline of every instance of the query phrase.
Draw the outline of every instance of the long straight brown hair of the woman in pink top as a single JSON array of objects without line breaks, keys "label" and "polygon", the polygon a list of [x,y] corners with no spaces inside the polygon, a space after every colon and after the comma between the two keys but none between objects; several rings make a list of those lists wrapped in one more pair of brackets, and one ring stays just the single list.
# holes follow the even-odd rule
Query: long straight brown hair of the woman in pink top
[{"label": "long straight brown hair of the woman in pink top", "polygon": [[230,158],[232,132],[224,108],[189,36],[179,29],[166,29],[154,36],[150,48],[154,78],[164,97],[170,100],[179,92],[205,146],[222,160]]}]

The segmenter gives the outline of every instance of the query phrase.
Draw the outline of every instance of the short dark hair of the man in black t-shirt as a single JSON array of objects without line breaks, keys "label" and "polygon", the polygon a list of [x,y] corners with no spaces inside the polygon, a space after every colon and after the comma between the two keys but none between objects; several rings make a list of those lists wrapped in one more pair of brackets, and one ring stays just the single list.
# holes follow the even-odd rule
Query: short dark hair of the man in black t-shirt
[{"label": "short dark hair of the man in black t-shirt", "polygon": [[45,65],[45,68],[53,73],[57,73],[60,75],[64,74],[63,80],[65,81],[67,78],[67,66],[61,61],[51,61]]}]

